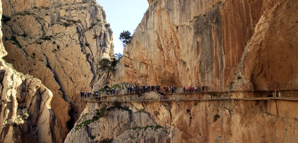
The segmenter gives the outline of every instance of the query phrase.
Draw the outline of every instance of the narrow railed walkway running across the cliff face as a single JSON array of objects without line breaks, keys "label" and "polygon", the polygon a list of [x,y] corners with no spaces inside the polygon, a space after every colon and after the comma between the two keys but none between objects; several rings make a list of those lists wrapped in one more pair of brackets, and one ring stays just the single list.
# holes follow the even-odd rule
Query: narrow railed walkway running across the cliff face
[{"label": "narrow railed walkway running across the cliff face", "polygon": [[[266,86],[264,86],[266,85]],[[154,100],[196,100],[196,99],[253,99],[253,98],[264,98],[264,97],[271,97],[271,98],[298,98],[298,82],[277,82],[277,83],[267,83],[267,84],[257,84],[254,86],[260,86],[258,90],[226,90],[226,91],[204,91],[202,92],[188,92],[188,93],[181,93],[183,90],[181,88],[179,90],[174,90],[175,93],[164,92],[164,89],[160,89],[159,91],[148,91],[141,89],[136,90],[136,92],[132,93],[123,93],[123,94],[113,94],[112,95],[104,95],[100,96],[98,92],[91,94],[91,92],[85,94],[81,93],[80,98],[84,99],[93,99],[93,98],[101,98],[101,97],[116,97],[116,96],[129,96],[132,94],[140,94],[144,92],[157,92],[161,94],[159,99]],[[248,87],[248,86],[244,86]],[[257,89],[257,88],[254,88]],[[176,93],[176,91],[180,91]],[[147,100],[144,98],[143,100]],[[153,99],[151,99],[153,100]]]}]

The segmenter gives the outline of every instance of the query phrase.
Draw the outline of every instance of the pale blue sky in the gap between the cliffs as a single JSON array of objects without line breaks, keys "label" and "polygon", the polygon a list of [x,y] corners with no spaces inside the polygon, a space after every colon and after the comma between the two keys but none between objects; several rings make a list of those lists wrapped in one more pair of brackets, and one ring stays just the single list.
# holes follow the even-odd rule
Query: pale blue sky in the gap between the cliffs
[{"label": "pale blue sky in the gap between the cliffs", "polygon": [[114,35],[114,53],[123,54],[123,45],[119,40],[122,31],[134,33],[149,7],[147,0],[97,0],[105,10],[107,21]]}]

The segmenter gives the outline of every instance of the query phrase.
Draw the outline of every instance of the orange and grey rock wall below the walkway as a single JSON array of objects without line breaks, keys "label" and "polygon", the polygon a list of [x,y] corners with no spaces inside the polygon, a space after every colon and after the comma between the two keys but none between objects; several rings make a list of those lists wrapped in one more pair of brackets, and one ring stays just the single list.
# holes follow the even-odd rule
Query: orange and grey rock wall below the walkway
[{"label": "orange and grey rock wall below the walkway", "polygon": [[293,101],[129,102],[98,120],[101,104],[88,105],[66,143],[298,141]]}]

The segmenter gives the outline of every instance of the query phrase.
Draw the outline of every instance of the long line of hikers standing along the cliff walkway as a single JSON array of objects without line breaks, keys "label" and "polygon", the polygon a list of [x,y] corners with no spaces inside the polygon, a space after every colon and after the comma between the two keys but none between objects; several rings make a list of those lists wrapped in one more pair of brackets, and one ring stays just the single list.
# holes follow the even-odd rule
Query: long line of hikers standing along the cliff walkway
[{"label": "long line of hikers standing along the cliff walkway", "polygon": [[[176,93],[176,87],[175,85],[171,86],[171,87],[166,87],[164,86],[163,87],[164,90],[163,92],[164,93]],[[193,86],[184,86],[183,88],[183,93],[200,93],[200,92],[204,92],[204,90],[206,89],[206,87],[204,85],[202,85],[201,87],[196,85],[195,86],[195,92],[193,91]],[[139,85],[138,87],[136,85],[130,85],[126,88],[127,90],[127,93],[138,93],[138,92],[150,92],[150,91],[155,91],[155,92],[161,92],[160,90],[160,86],[159,85]],[[98,90],[97,91],[93,91],[93,93],[91,93],[90,91],[89,92],[81,92],[80,93],[80,98],[91,98],[91,97],[98,97]],[[112,88],[112,89],[109,89],[109,88],[106,88],[105,89],[105,95],[106,96],[109,96],[109,95],[118,95],[120,93],[120,90],[119,88]]]}]

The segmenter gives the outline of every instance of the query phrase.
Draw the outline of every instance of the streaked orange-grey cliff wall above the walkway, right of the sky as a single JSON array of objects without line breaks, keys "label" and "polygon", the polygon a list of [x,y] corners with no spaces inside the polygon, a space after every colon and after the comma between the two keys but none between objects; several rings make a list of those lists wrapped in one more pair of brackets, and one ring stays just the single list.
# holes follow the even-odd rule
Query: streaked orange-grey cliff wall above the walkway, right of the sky
[{"label": "streaked orange-grey cliff wall above the walkway, right of the sky", "polygon": [[222,91],[232,81],[253,89],[297,80],[297,1],[148,2],[112,85],[197,84]]}]

